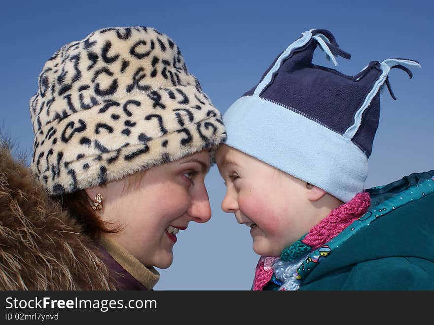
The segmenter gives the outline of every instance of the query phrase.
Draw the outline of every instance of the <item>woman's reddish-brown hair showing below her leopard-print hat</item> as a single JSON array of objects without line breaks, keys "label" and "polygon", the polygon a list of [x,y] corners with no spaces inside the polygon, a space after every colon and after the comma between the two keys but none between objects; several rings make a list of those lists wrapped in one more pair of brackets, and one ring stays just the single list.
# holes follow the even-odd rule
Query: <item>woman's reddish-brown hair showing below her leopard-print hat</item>
[{"label": "woman's reddish-brown hair showing below her leopard-print hat", "polygon": [[62,206],[62,210],[68,210],[79,224],[83,226],[83,233],[97,238],[101,233],[115,233],[120,226],[110,227],[110,223],[103,221],[94,210],[92,210],[89,197],[84,189],[65,194],[55,198]]}]

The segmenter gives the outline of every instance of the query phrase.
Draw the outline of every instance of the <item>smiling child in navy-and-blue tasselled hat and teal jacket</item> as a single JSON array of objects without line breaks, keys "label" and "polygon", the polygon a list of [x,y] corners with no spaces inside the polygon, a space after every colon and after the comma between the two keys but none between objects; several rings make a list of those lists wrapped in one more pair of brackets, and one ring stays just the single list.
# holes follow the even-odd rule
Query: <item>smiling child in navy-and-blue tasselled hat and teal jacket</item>
[{"label": "smiling child in navy-and-blue tasselled hat and teal jacket", "polygon": [[223,115],[222,210],[251,228],[253,290],[434,289],[434,170],[363,190],[388,72],[347,76],[312,64],[326,30],[302,34]]}]

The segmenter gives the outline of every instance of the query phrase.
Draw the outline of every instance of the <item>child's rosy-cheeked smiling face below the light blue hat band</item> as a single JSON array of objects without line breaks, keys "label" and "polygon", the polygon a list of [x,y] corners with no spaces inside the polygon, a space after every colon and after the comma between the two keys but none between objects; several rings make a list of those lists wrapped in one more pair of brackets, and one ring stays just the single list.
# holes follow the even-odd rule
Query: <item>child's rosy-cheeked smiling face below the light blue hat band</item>
[{"label": "child's rosy-cheeked smiling face below the light blue hat band", "polygon": [[279,256],[318,222],[306,213],[306,182],[225,144],[216,162],[226,183],[221,209],[251,228],[255,253]]}]

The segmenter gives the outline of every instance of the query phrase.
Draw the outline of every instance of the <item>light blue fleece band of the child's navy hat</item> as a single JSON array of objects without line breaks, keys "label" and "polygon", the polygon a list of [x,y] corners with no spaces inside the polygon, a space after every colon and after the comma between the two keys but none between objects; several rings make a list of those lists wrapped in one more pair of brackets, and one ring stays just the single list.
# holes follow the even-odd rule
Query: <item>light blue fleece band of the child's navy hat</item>
[{"label": "light blue fleece band of the child's navy hat", "polygon": [[368,160],[351,139],[290,108],[258,96],[238,99],[223,114],[226,144],[343,202],[363,191]]}]

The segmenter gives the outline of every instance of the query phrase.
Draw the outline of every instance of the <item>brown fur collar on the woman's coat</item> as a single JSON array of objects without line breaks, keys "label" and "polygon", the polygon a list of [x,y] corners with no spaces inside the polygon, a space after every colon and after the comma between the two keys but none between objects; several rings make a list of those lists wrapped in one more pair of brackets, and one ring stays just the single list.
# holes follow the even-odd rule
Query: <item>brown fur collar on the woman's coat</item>
[{"label": "brown fur collar on the woman's coat", "polygon": [[0,289],[115,289],[90,237],[0,144]]}]

